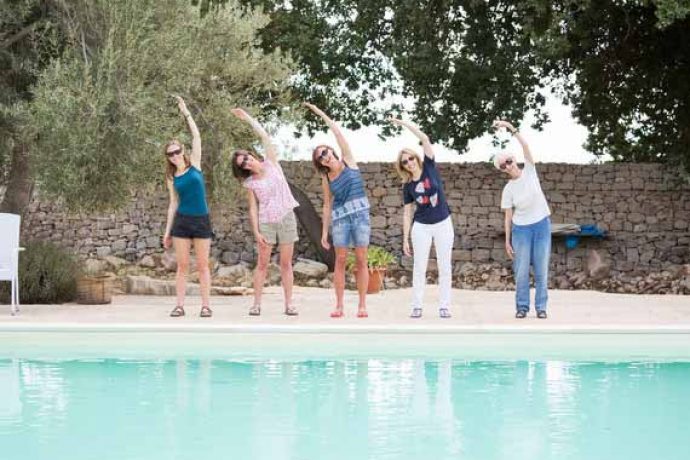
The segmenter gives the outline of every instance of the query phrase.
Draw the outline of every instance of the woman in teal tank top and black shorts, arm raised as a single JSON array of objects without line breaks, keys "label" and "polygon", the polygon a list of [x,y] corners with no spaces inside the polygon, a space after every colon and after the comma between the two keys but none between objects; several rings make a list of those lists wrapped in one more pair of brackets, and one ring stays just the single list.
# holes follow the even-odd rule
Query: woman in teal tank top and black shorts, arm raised
[{"label": "woman in teal tank top and black shorts, arm raised", "polygon": [[192,134],[192,153],[187,155],[182,142],[174,139],[165,145],[165,182],[170,194],[168,219],[165,225],[163,246],[175,248],[177,275],[175,291],[177,305],[170,316],[184,316],[185,291],[187,289],[187,270],[189,252],[194,245],[199,284],[201,285],[201,311],[199,316],[212,315],[209,308],[211,291],[211,271],[208,266],[211,250],[211,221],[206,203],[206,186],[201,172],[201,136],[199,129],[189,113],[187,105],[177,96],[177,106],[187,120]]}]

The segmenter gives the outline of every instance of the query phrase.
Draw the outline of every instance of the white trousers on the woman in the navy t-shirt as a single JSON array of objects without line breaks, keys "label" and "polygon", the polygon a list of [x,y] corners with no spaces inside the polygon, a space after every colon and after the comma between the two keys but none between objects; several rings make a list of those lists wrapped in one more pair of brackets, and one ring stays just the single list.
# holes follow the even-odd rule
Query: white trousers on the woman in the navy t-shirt
[{"label": "white trousers on the woman in the navy t-shirt", "polygon": [[431,243],[436,247],[438,266],[439,308],[450,308],[450,291],[453,274],[452,254],[455,232],[450,216],[437,224],[412,224],[412,251],[414,268],[412,271],[412,308],[424,306],[426,269],[429,264]]}]

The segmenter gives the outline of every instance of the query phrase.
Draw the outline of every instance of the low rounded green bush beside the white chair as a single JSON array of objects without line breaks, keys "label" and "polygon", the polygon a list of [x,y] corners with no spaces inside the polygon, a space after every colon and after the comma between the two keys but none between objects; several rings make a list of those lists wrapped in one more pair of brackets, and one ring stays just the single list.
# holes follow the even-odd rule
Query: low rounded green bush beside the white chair
[{"label": "low rounded green bush beside the white chair", "polygon": [[[19,254],[19,301],[55,304],[76,298],[79,264],[76,257],[51,243],[34,241]],[[0,285],[0,299],[9,303],[10,285]]]}]

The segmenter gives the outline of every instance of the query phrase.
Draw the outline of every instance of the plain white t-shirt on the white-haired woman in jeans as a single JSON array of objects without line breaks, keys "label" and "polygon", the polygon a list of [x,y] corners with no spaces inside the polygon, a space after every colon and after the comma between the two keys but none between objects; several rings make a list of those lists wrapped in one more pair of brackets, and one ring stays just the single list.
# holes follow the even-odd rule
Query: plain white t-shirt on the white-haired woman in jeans
[{"label": "plain white t-shirt on the white-haired woman in jeans", "polygon": [[508,181],[501,194],[501,209],[513,208],[513,223],[530,225],[550,216],[551,211],[541,190],[537,169],[525,161],[522,174]]}]

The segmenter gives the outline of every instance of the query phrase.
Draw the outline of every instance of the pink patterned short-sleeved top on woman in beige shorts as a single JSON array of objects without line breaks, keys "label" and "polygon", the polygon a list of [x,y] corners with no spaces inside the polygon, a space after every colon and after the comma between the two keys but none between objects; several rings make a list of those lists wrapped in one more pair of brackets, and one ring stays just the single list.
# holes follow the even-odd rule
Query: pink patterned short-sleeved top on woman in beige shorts
[{"label": "pink patterned short-sleeved top on woman in beige shorts", "polygon": [[299,206],[299,203],[290,192],[283,168],[271,160],[265,160],[262,164],[263,177],[248,177],[243,185],[254,192],[259,201],[259,222],[272,224],[280,222],[288,212]]}]

